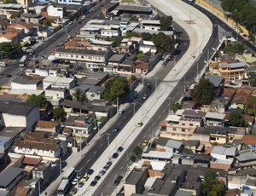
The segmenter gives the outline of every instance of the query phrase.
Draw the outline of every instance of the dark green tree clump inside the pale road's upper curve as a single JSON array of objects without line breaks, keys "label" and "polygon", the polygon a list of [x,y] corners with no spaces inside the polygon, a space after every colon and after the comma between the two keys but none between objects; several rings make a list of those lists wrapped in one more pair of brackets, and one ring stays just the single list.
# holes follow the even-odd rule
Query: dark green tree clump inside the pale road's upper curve
[{"label": "dark green tree clump inside the pale road's upper curve", "polygon": [[163,32],[160,32],[156,35],[154,34],[152,41],[158,52],[168,52],[174,47],[174,43],[171,37],[166,36],[166,34]]}]

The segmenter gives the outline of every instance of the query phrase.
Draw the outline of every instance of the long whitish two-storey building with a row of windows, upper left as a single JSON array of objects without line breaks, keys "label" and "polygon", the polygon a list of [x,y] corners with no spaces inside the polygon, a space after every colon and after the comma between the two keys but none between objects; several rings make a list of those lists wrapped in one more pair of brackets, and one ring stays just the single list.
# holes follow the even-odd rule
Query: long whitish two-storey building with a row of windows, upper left
[{"label": "long whitish two-storey building with a row of windows, upper left", "polygon": [[55,50],[55,58],[62,61],[80,61],[84,62],[88,68],[99,68],[106,66],[108,51],[88,50],[88,49],[65,49],[58,48]]}]

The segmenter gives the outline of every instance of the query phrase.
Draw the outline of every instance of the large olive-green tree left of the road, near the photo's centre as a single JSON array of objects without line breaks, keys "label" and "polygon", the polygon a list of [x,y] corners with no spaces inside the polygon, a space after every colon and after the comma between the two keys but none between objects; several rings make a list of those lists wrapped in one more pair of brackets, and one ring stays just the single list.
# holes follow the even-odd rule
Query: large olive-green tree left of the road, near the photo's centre
[{"label": "large olive-green tree left of the road, near the photo's centre", "polygon": [[113,103],[117,97],[122,97],[127,91],[127,80],[123,78],[110,78],[104,83],[102,97]]}]

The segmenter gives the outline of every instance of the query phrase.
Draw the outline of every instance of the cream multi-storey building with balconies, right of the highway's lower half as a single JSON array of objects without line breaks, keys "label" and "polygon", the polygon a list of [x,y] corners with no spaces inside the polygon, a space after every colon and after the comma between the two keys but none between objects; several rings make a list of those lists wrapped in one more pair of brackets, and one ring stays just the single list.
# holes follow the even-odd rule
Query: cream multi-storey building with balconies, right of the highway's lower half
[{"label": "cream multi-storey building with balconies, right of the highway's lower half", "polygon": [[197,127],[203,125],[202,118],[180,117],[169,115],[166,118],[166,130],[160,130],[160,136],[175,140],[189,140]]}]

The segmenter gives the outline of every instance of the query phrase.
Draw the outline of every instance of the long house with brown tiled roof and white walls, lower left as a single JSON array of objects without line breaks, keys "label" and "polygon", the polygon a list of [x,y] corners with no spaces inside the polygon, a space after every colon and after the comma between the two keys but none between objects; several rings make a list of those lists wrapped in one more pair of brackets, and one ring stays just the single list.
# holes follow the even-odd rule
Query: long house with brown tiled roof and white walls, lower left
[{"label": "long house with brown tiled roof and white walls, lower left", "polygon": [[23,138],[15,139],[14,153],[33,154],[42,157],[58,158],[61,147],[55,142],[54,136],[42,132],[27,132]]}]

